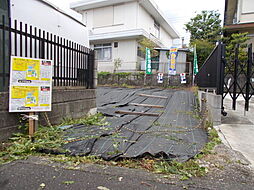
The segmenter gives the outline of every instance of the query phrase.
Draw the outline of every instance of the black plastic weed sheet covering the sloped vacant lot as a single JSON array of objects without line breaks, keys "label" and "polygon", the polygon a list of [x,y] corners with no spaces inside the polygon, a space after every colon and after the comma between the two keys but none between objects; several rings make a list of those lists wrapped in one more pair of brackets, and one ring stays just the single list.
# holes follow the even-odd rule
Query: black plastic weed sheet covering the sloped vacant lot
[{"label": "black plastic weed sheet covering the sloped vacant lot", "polygon": [[[166,96],[167,99],[140,94]],[[152,156],[186,161],[199,153],[207,142],[207,133],[199,126],[196,97],[191,91],[98,88],[97,107],[106,116],[108,125],[68,128],[66,138],[74,141],[64,148],[72,155],[94,155],[105,160]],[[119,110],[160,113],[160,116],[116,114]]]}]

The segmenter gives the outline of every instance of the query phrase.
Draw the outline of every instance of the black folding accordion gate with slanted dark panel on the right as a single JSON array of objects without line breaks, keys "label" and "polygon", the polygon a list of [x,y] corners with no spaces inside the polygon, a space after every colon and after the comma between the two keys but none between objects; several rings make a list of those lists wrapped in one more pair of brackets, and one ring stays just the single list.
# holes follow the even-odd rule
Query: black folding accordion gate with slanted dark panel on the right
[{"label": "black folding accordion gate with slanted dark panel on the right", "polygon": [[222,96],[222,109],[226,97],[232,99],[234,110],[236,100],[241,97],[245,100],[245,110],[248,111],[249,101],[254,96],[253,68],[252,44],[248,46],[245,58],[241,55],[240,59],[239,45],[233,54],[226,57],[225,45],[220,43],[200,68],[196,82],[199,87],[215,89]]}]

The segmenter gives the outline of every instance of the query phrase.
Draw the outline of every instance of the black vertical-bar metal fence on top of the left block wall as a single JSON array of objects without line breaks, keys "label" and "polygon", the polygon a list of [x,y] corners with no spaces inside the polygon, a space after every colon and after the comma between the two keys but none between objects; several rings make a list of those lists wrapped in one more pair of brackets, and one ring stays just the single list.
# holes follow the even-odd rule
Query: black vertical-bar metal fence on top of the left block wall
[{"label": "black vertical-bar metal fence on top of the left block wall", "polygon": [[8,90],[11,55],[53,60],[54,86],[93,88],[94,51],[87,47],[5,16],[0,46],[0,91]]}]

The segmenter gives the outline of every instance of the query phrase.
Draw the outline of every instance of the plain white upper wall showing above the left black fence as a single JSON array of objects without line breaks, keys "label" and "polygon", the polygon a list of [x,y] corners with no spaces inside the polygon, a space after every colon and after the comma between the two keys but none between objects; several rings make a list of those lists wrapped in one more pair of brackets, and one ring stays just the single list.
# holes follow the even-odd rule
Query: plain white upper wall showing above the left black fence
[{"label": "plain white upper wall showing above the left black fence", "polygon": [[11,18],[89,47],[85,26],[40,0],[11,0]]}]

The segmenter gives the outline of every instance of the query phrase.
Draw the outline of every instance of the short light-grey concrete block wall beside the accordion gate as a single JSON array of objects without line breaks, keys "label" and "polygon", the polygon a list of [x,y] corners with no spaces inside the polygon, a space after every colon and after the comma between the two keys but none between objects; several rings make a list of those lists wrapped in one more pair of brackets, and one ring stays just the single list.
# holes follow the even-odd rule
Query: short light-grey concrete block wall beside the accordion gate
[{"label": "short light-grey concrete block wall beside the accordion gate", "polygon": [[221,99],[220,95],[198,91],[200,111],[208,111],[208,120],[214,126],[221,124]]}]

